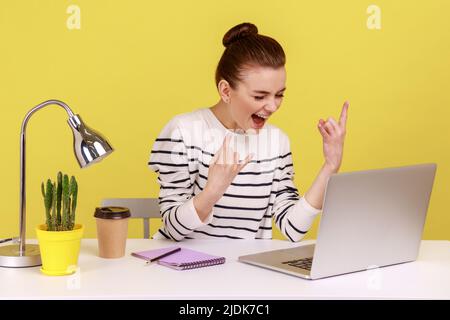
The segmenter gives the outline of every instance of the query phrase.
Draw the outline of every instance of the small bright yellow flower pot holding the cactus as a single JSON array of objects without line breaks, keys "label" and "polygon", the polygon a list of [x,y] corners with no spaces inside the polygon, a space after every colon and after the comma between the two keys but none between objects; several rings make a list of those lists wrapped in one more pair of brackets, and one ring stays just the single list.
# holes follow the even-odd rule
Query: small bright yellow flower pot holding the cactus
[{"label": "small bright yellow flower pot holding the cactus", "polygon": [[76,224],[71,231],[47,231],[46,224],[36,228],[42,273],[63,276],[76,272],[83,230],[81,224]]}]

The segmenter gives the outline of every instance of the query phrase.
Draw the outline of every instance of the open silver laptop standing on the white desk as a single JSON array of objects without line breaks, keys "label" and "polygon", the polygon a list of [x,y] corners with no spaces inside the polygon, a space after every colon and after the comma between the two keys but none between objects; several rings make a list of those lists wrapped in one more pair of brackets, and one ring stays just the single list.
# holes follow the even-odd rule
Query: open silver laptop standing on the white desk
[{"label": "open silver laptop standing on the white desk", "polygon": [[436,167],[333,174],[315,244],[244,255],[239,261],[311,280],[414,261]]}]

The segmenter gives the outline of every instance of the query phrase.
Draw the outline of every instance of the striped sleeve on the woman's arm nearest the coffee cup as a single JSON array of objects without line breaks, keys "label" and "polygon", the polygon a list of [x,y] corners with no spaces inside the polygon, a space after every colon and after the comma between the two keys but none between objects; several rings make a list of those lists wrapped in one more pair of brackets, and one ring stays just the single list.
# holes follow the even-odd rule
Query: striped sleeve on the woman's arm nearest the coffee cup
[{"label": "striped sleeve on the woman's arm nearest the coffee cup", "polygon": [[212,215],[202,222],[194,207],[194,181],[189,173],[187,148],[177,117],[155,140],[148,165],[158,174],[159,208],[163,222],[159,232],[163,236],[180,241],[194,229],[211,222]]}]

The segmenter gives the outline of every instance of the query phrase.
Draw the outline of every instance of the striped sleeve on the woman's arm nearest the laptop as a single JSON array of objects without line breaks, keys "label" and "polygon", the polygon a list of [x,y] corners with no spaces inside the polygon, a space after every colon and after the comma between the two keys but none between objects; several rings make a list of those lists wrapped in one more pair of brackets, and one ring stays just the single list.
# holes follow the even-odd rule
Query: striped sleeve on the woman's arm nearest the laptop
[{"label": "striped sleeve on the woman's arm nearest the laptop", "polygon": [[292,242],[300,241],[321,211],[301,197],[294,185],[294,166],[289,138],[284,139],[280,182],[273,204],[273,217],[280,231]]}]

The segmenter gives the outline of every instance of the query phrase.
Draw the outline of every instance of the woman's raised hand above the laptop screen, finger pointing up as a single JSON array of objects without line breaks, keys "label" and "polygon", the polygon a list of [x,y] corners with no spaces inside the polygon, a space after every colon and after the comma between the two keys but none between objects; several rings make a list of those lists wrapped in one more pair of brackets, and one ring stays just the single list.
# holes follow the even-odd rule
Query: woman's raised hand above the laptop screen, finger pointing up
[{"label": "woman's raised hand above the laptop screen, finger pointing up", "polygon": [[348,106],[349,103],[346,101],[342,107],[339,122],[332,117],[329,117],[327,121],[319,120],[318,129],[323,137],[324,166],[333,173],[337,173],[341,167]]}]

